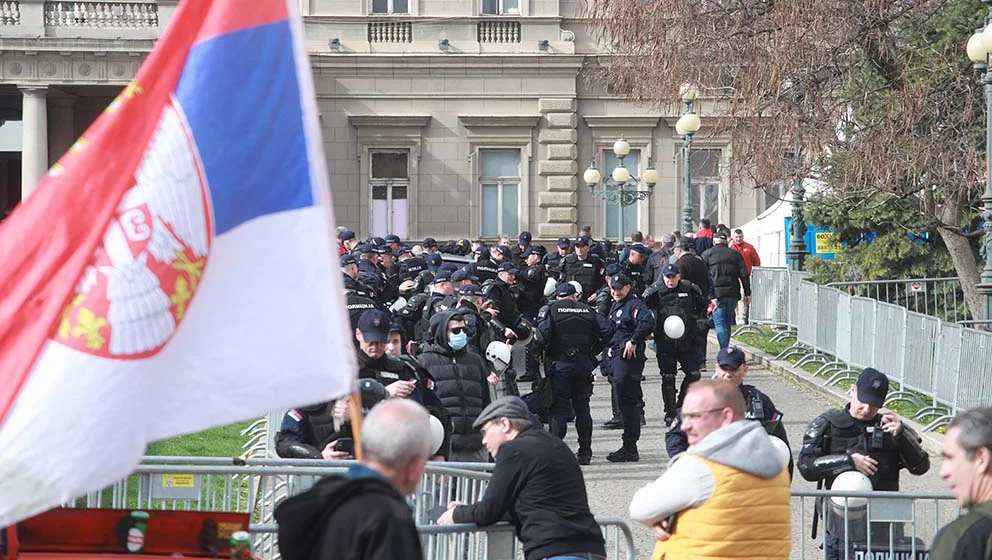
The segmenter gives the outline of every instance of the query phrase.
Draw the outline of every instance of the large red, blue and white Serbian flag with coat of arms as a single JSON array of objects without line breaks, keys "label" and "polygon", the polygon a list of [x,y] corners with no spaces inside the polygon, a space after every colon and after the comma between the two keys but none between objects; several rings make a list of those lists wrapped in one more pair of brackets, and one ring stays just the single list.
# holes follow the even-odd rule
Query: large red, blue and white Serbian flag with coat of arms
[{"label": "large red, blue and white Serbian flag with coat of arms", "polygon": [[0,526],[355,372],[298,0],[181,2],[0,226]]}]

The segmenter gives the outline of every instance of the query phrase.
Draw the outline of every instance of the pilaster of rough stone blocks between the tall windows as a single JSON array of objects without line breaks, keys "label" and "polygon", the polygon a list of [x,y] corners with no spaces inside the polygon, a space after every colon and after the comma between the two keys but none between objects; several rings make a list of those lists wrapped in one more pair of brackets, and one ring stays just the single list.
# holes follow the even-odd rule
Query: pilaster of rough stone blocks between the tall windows
[{"label": "pilaster of rough stone blocks between the tall windows", "polygon": [[538,135],[541,159],[537,169],[538,175],[546,180],[546,190],[538,194],[538,205],[547,209],[547,219],[537,227],[538,237],[542,239],[574,237],[577,230],[579,165],[575,107],[574,98],[538,101],[543,118]]}]

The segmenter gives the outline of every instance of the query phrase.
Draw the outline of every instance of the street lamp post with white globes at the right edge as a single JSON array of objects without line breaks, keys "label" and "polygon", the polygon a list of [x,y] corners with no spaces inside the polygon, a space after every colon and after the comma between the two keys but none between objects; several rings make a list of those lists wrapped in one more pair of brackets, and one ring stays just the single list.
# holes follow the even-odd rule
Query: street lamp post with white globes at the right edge
[{"label": "street lamp post with white globes at the right edge", "polygon": [[984,296],[986,321],[992,320],[992,72],[989,71],[989,53],[992,52],[992,0],[983,0],[989,7],[985,27],[968,39],[968,58],[975,69],[982,73],[985,87],[985,193],[982,195],[982,219],[985,222],[985,268],[982,269],[978,293]]}]

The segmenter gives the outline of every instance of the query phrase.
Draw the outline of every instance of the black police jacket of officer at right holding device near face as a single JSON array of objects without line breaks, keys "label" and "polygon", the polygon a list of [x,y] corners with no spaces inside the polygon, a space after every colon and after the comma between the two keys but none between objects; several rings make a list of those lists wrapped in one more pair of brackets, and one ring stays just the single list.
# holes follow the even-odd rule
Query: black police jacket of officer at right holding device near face
[{"label": "black police jacket of officer at right holding device near face", "polygon": [[827,488],[842,472],[854,470],[851,455],[869,455],[878,461],[878,470],[870,477],[875,490],[899,490],[899,470],[921,475],[930,469],[930,457],[920,446],[916,432],[903,424],[897,437],[881,431],[881,414],[870,420],[851,416],[850,404],[828,410],[809,423],[799,451],[799,472],[809,481],[823,479]]}]

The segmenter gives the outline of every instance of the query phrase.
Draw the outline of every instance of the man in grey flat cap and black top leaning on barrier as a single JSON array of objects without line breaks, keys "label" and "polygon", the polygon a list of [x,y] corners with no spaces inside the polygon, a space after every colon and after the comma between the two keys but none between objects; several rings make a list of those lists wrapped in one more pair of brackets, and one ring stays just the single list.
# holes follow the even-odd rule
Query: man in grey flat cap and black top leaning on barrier
[{"label": "man in grey flat cap and black top leaning on barrier", "polygon": [[492,402],[473,423],[496,457],[482,501],[451,502],[439,525],[485,527],[513,521],[526,560],[605,560],[603,533],[589,511],[579,463],[541,428],[519,397]]}]

